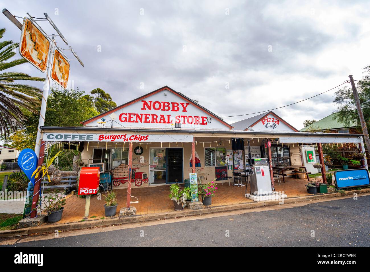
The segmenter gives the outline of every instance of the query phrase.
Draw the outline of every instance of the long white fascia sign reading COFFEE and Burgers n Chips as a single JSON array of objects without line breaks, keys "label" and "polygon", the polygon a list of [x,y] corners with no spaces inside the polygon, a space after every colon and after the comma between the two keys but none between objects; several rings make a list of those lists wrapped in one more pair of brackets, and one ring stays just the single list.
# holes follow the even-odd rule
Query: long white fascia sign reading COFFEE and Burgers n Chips
[{"label": "long white fascia sign reading COFFEE and Burgers n Chips", "polygon": [[44,132],[44,141],[60,142],[192,142],[193,135],[168,134],[99,134]]}]

